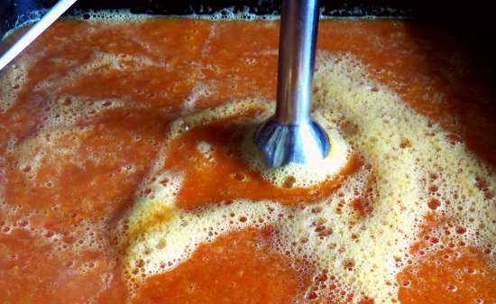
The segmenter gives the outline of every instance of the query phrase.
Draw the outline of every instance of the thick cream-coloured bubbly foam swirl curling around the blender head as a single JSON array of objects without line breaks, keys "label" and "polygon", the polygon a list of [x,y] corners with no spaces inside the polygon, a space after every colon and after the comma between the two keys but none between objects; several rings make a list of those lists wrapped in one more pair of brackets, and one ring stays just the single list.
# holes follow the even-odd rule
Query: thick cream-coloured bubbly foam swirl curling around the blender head
[{"label": "thick cream-coloured bubbly foam swirl curling around the blender head", "polygon": [[[126,253],[125,277],[133,288],[147,276],[186,262],[198,244],[213,242],[217,235],[273,226],[280,231],[275,250],[295,259],[311,257],[317,272],[333,274],[338,287],[353,293],[355,300],[365,296],[376,303],[391,303],[398,294],[396,275],[406,261],[413,260],[409,248],[417,241],[424,216],[432,212],[433,199],[440,202],[436,212],[466,229],[454,237],[480,249],[496,241],[491,228],[496,223],[495,198],[488,195],[496,189],[496,174],[463,143],[450,141],[440,126],[405,106],[349,55],[320,54],[315,87],[313,115],[339,141],[336,146],[341,150],[334,156],[341,161],[334,163],[342,164],[353,152],[363,163],[361,168],[347,176],[335,194],[304,207],[237,199],[230,205],[187,211],[174,207],[180,172],[161,170],[166,143],[156,170],[142,185],[152,191],[138,196],[119,229]],[[252,121],[240,118],[240,124],[258,123],[273,111],[262,100],[235,101],[178,118],[167,141],[197,124],[251,109],[262,115]],[[207,153],[208,143],[200,143],[199,149]],[[249,148],[244,153],[253,156]],[[297,186],[308,186],[332,177],[338,168],[320,166],[308,174],[308,168],[291,166],[262,171],[262,177],[280,185],[292,176]],[[163,177],[168,181],[158,182]],[[483,189],[478,180],[483,180]],[[369,204],[365,214],[354,210],[356,199]],[[240,217],[243,220],[236,220]],[[325,285],[315,282],[307,296],[343,299],[339,291],[322,288]]]}]

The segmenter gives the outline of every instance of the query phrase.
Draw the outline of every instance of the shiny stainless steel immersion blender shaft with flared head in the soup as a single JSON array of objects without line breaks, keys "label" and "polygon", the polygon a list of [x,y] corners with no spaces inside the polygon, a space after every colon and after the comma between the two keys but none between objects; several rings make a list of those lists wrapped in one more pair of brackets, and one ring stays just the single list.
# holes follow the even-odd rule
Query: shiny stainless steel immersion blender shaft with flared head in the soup
[{"label": "shiny stainless steel immersion blender shaft with flared head in the soup", "polygon": [[329,138],[311,117],[315,63],[317,0],[284,0],[280,14],[276,113],[255,133],[269,167],[326,158]]}]

